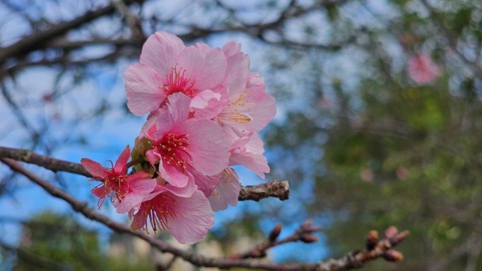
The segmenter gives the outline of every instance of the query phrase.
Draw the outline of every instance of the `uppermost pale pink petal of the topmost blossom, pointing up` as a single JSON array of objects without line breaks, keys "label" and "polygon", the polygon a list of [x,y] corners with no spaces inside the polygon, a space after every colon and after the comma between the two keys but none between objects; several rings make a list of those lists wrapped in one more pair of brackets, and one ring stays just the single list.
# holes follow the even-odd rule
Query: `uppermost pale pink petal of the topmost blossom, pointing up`
[{"label": "uppermost pale pink petal of the topmost blossom, pointing up", "polygon": [[140,61],[154,68],[161,77],[168,75],[176,63],[177,55],[185,48],[176,35],[156,32],[149,36],[142,47]]}]

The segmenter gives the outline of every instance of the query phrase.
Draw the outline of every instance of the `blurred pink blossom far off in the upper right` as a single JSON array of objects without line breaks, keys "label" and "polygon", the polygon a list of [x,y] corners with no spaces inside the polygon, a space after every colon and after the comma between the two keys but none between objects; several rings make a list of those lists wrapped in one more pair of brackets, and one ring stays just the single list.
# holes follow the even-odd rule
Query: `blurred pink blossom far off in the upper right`
[{"label": "blurred pink blossom far off in the upper right", "polygon": [[410,78],[418,84],[430,83],[440,74],[437,64],[425,54],[412,56],[408,60],[407,70]]}]

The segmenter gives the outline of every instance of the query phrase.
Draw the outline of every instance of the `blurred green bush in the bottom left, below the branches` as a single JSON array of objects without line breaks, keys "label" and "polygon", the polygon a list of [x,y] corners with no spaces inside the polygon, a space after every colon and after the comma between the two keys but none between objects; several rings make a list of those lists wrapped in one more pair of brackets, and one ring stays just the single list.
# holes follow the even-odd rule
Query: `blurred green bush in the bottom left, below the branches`
[{"label": "blurred green bush in the bottom left, below the branches", "polygon": [[[98,234],[82,227],[69,215],[43,212],[25,223],[19,249],[48,259],[69,270],[151,270],[145,258],[135,261],[110,256]],[[15,270],[50,270],[35,265],[32,257],[17,257]]]}]

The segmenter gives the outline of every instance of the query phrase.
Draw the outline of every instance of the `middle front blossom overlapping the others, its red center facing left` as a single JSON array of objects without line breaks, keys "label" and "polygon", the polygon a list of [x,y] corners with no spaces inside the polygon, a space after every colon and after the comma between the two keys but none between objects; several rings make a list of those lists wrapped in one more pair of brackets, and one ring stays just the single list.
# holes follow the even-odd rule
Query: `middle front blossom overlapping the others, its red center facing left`
[{"label": "middle front blossom overlapping the others, its red center facing left", "polygon": [[[223,129],[208,119],[188,118],[191,99],[182,93],[168,97],[146,132],[152,149],[146,158],[152,166],[159,164],[159,174],[177,187],[194,178],[191,171],[212,176],[228,166],[231,143]],[[154,117],[154,116],[152,116]]]}]

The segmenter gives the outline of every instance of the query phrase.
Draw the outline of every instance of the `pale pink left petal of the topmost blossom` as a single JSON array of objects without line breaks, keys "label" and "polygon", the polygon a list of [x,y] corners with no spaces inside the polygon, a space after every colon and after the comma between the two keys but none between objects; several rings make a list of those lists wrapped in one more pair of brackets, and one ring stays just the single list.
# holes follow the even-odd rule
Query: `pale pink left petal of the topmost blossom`
[{"label": "pale pink left petal of the topmost blossom", "polygon": [[127,107],[134,115],[153,111],[165,99],[162,77],[149,66],[134,63],[124,72]]}]

